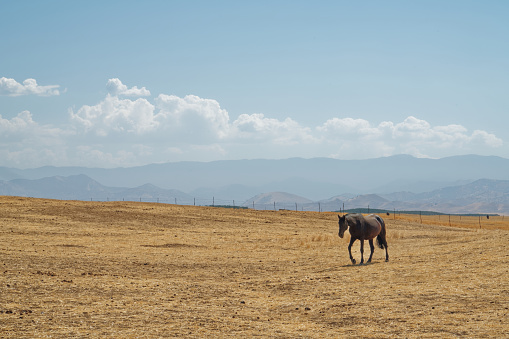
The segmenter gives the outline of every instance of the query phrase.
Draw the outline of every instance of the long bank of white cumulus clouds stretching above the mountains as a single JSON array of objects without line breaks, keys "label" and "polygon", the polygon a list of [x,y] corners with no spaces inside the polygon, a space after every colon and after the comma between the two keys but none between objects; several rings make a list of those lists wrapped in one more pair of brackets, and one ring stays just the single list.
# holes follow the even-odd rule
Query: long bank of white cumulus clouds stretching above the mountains
[{"label": "long bank of white cumulus clouds stretching above the mountains", "polygon": [[219,102],[195,95],[159,94],[149,99],[145,87],[129,88],[119,79],[108,80],[106,87],[104,99],[70,109],[59,126],[38,124],[28,111],[11,119],[0,116],[0,165],[117,167],[240,158],[444,157],[493,154],[504,145],[486,131],[469,131],[458,124],[433,126],[414,116],[376,124],[332,117],[305,126],[262,113],[231,119]]}]

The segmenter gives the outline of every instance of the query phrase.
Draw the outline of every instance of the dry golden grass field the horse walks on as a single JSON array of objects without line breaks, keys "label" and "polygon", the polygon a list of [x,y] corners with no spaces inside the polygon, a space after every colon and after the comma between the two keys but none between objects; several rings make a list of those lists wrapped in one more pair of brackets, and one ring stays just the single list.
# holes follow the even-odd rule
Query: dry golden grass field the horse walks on
[{"label": "dry golden grass field the horse walks on", "polygon": [[383,217],[354,266],[333,213],[0,197],[0,337],[509,335],[509,218]]}]

